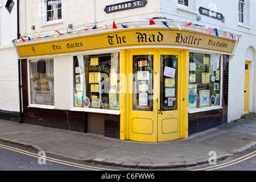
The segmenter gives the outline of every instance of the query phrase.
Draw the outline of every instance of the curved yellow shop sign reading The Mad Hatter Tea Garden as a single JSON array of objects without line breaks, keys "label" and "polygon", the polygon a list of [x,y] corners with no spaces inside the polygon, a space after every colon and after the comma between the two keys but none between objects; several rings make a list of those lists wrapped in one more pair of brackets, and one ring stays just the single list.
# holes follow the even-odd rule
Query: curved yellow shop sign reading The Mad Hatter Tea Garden
[{"label": "curved yellow shop sign reading The Mad Hatter Tea Garden", "polygon": [[20,57],[36,57],[134,46],[195,48],[232,54],[236,40],[188,30],[166,28],[114,31],[43,43],[19,44]]}]

